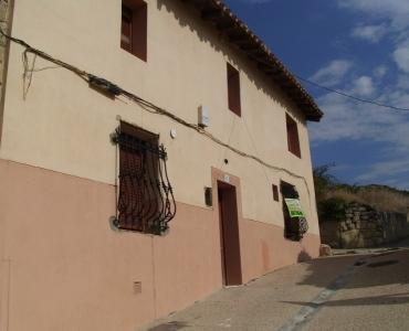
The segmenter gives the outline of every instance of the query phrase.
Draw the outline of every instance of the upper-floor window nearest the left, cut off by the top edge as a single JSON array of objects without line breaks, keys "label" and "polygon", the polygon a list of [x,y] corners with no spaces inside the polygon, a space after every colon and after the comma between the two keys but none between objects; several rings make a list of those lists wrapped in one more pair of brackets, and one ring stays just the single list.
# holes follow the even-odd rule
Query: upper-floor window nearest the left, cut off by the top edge
[{"label": "upper-floor window nearest the left, cut off by the top edge", "polygon": [[120,47],[138,56],[147,58],[147,4],[141,0],[123,0]]}]

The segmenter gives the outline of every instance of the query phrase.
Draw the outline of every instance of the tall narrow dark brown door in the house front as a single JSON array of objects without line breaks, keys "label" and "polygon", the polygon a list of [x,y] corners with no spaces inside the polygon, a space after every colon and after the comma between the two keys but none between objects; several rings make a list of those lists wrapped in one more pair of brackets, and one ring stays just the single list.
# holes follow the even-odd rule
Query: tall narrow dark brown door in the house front
[{"label": "tall narrow dark brown door in the house front", "polygon": [[218,183],[223,285],[241,285],[241,258],[235,188]]}]

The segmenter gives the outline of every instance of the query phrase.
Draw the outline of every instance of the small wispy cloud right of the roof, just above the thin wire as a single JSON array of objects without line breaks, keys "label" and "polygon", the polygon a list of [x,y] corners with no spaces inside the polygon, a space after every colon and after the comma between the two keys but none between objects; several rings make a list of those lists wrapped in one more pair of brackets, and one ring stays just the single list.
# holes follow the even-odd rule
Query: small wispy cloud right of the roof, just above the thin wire
[{"label": "small wispy cloud right of the roof, just above the thin wire", "polygon": [[325,67],[318,70],[311,79],[315,83],[326,86],[337,85],[348,71],[353,67],[353,63],[347,60],[334,60]]}]

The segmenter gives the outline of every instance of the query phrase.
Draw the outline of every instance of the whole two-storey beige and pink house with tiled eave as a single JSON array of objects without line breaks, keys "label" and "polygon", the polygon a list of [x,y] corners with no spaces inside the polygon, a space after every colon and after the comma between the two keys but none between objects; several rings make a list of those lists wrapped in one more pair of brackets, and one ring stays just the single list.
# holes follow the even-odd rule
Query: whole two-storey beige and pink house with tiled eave
[{"label": "whole two-storey beige and pink house with tiled eave", "polygon": [[322,113],[221,1],[1,6],[9,34],[98,76],[1,49],[1,331],[135,330],[318,255]]}]

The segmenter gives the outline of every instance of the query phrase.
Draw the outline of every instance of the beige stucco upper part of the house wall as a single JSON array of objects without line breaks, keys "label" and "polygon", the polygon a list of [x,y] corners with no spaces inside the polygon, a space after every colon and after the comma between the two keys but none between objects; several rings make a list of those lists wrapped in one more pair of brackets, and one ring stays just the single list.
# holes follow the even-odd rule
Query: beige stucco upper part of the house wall
[{"label": "beige stucco upper part of the house wall", "polygon": [[[208,106],[209,132],[304,177],[310,194],[303,180],[227,151],[124,98],[109,99],[62,68],[33,73],[24,100],[23,49],[15,44],[10,50],[0,158],[114,184],[116,153],[109,134],[119,115],[160,135],[178,202],[204,206],[203,186],[211,185],[210,169],[214,167],[241,179],[244,217],[283,226],[282,205],[273,202],[271,192],[271,184],[283,179],[297,186],[310,232],[318,234],[308,136],[300,110],[181,1],[147,2],[147,63],[119,47],[119,0],[20,0],[14,7],[12,34],[187,121],[197,122],[198,106]],[[227,61],[240,68],[241,118],[228,109]],[[35,68],[50,65],[35,60]],[[302,159],[287,151],[285,111],[298,122]],[[175,140],[169,137],[172,128],[178,134]]]}]

